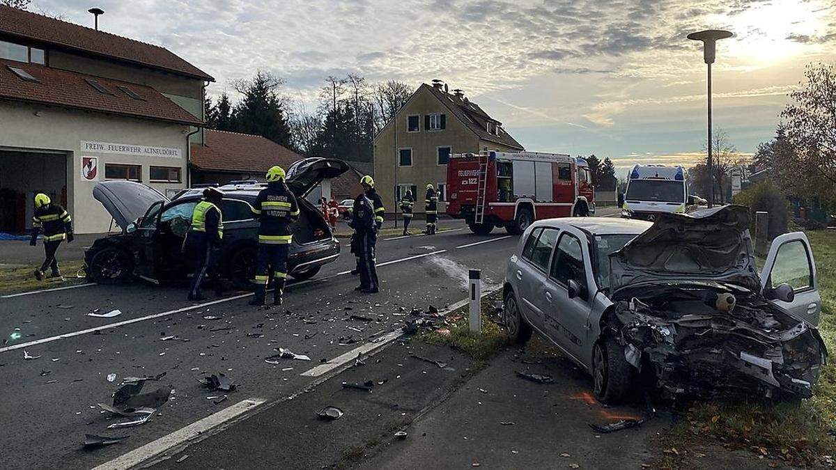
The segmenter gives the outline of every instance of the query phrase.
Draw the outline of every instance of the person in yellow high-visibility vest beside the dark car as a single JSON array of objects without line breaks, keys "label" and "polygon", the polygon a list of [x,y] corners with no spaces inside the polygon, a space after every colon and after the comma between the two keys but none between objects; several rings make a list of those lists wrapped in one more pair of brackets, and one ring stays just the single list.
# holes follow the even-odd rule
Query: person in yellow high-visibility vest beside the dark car
[{"label": "person in yellow high-visibility vest beside the dark car", "polygon": [[195,273],[191,278],[189,300],[206,299],[201,294],[201,283],[204,276],[212,278],[215,293],[220,297],[221,284],[215,275],[215,249],[221,246],[223,240],[223,215],[221,201],[223,192],[207,187],[203,190],[203,198],[191,213],[191,228],[186,234],[184,248],[191,253],[195,260]]}]

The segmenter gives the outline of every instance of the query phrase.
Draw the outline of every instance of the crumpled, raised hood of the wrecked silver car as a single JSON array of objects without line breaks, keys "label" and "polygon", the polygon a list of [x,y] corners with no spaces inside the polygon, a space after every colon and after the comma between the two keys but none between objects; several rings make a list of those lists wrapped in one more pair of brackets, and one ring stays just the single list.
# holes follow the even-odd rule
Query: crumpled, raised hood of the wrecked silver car
[{"label": "crumpled, raised hood of the wrecked silver car", "polygon": [[746,207],[660,214],[609,255],[611,292],[647,281],[712,280],[759,292]]}]

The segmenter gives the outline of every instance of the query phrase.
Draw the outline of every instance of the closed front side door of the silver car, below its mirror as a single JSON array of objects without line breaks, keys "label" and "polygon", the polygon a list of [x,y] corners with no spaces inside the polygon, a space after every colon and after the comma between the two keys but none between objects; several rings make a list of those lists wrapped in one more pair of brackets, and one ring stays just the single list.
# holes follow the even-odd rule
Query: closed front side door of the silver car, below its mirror
[{"label": "closed front side door of the silver car, below its mirror", "polygon": [[[589,280],[589,247],[584,240],[579,234],[567,230],[560,233],[548,279],[540,288],[542,295],[538,299],[543,302],[546,334],[575,360],[587,364],[588,361],[583,360],[583,350],[589,340],[587,324],[592,300],[589,286],[593,284]],[[570,281],[580,288],[573,297],[569,296]]]}]

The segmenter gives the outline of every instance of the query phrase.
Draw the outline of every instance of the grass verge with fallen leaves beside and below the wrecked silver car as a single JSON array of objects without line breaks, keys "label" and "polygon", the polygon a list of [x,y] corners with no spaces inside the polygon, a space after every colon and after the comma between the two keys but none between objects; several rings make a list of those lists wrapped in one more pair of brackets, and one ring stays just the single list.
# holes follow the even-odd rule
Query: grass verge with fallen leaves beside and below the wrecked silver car
[{"label": "grass verge with fallen leaves beside and below the wrecked silver car", "polygon": [[[818,324],[830,354],[836,353],[836,232],[807,232],[818,268],[818,289],[822,296],[822,316]],[[671,429],[662,443],[675,447],[679,442],[708,438],[727,448],[745,448],[760,456],[781,459],[793,465],[833,465],[836,439],[836,366],[833,356],[825,365],[813,398],[798,403],[768,404],[695,403],[685,419]],[[678,467],[670,452],[662,467]]]}]

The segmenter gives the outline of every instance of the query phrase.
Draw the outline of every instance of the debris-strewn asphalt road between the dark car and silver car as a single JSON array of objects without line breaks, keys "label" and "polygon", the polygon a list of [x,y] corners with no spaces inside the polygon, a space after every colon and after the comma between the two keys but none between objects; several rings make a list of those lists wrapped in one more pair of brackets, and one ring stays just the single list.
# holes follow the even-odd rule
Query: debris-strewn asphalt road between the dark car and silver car
[{"label": "debris-strewn asphalt road between the dark car and silver car", "polygon": [[[478,242],[485,243],[473,244]],[[0,299],[3,336],[10,339],[15,328],[22,334],[0,348],[0,448],[5,451],[0,467],[94,467],[245,398],[275,401],[288,396],[313,381],[301,372],[358,346],[340,345],[340,337],[358,340],[395,330],[403,319],[395,315],[399,307],[441,308],[463,299],[466,268],[481,268],[485,284],[501,283],[505,260],[516,243],[517,237],[504,231],[479,237],[466,228],[434,237],[382,240],[377,261],[383,283],[374,295],[353,291],[358,279],[346,272],[354,258],[344,248],[346,253],[316,278],[291,285],[282,308],[269,310],[248,306],[247,297],[196,306],[186,301],[185,288],[141,282]],[[112,319],[88,316],[94,309],[120,309],[122,314]],[[376,320],[349,320],[350,314]],[[145,319],[150,315],[157,316]],[[206,315],[221,318],[204,319]],[[125,320],[136,321],[85,332]],[[169,335],[181,340],[160,340]],[[310,355],[311,361],[265,363],[278,347]],[[40,357],[24,360],[24,350]],[[172,399],[143,426],[106,429],[114,420],[96,403],[110,403],[122,377],[161,372],[166,377],[146,388],[171,385]],[[206,397],[218,394],[203,390],[197,380],[219,372],[232,377],[239,390],[216,405]],[[106,378],[111,373],[117,375],[113,383]],[[85,433],[130,439],[84,452],[79,447]]]}]

